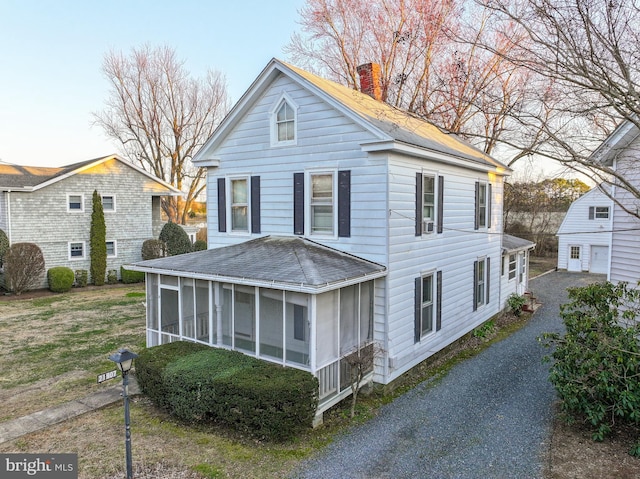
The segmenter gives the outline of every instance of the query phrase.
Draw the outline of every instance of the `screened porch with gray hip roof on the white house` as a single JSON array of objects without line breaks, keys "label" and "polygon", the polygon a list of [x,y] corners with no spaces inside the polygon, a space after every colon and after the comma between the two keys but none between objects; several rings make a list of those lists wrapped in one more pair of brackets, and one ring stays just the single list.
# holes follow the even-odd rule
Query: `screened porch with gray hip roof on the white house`
[{"label": "screened porch with gray hip roof on the white house", "polygon": [[273,236],[127,268],[146,273],[147,346],[195,341],[304,369],[320,384],[318,414],[351,393],[347,358],[372,347],[386,275],[377,263]]}]

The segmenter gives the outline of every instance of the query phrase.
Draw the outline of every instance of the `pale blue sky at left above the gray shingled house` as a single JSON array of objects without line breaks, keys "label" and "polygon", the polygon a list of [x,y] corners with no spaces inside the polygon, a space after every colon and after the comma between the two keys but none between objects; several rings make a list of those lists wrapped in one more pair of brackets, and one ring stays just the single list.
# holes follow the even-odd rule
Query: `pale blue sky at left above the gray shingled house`
[{"label": "pale blue sky at left above the gray shingled house", "polygon": [[109,50],[167,45],[235,103],[291,34],[304,0],[0,0],[0,161],[62,166],[116,153],[104,107]]}]

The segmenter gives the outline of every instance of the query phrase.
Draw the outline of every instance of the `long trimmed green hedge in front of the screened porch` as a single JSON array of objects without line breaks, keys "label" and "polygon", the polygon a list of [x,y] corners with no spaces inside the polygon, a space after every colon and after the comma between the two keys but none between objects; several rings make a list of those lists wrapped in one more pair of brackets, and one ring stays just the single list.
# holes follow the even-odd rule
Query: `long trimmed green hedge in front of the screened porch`
[{"label": "long trimmed green hedge in front of the screened porch", "polygon": [[[251,436],[283,440],[310,428],[318,380],[237,351],[181,342],[145,351],[138,382],[152,401],[185,422],[217,422]],[[186,343],[196,344],[196,343]],[[136,371],[140,358],[136,362]]]}]

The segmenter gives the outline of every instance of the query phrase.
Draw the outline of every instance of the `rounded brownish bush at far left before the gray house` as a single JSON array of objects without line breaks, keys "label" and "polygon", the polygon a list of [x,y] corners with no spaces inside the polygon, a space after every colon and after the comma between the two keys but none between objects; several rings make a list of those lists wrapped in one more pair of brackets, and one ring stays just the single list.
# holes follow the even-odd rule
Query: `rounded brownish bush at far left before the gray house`
[{"label": "rounded brownish bush at far left before the gray house", "polygon": [[34,243],[14,243],[4,256],[5,286],[20,294],[42,283],[44,256]]}]

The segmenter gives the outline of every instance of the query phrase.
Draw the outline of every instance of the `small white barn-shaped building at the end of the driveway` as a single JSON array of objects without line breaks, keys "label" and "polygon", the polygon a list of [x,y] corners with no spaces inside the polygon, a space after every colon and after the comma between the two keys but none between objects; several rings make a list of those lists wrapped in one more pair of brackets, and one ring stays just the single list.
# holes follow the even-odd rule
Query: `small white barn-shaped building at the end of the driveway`
[{"label": "small white barn-shaped building at the end of the driveway", "polygon": [[613,201],[597,186],[574,201],[558,229],[558,269],[609,271]]}]

